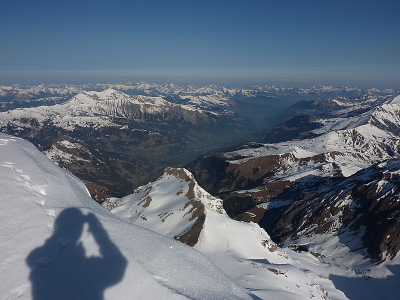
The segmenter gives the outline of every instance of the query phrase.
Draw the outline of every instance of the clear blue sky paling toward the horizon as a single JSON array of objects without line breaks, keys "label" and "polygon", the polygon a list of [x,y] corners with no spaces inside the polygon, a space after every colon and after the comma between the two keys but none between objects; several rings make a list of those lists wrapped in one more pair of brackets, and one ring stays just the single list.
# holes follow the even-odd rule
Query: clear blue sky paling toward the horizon
[{"label": "clear blue sky paling toward the horizon", "polygon": [[400,88],[400,0],[0,0],[0,84]]}]

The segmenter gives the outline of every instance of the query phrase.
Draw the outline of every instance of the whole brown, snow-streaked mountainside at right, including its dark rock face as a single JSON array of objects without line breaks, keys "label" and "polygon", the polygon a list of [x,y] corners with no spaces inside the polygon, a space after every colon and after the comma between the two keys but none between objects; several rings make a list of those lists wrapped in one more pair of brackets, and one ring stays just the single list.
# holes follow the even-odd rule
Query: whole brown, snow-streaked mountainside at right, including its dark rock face
[{"label": "whole brown, snow-streaked mountainside at right, including its dark rock face", "polygon": [[[356,116],[309,119],[318,123],[312,130],[315,137],[250,142],[233,151],[199,158],[187,168],[202,187],[223,198],[230,216],[258,222],[275,241],[307,245],[310,251],[326,257],[338,255],[327,244],[343,244],[351,257],[355,251],[356,255],[370,255],[372,261],[390,260],[400,246],[393,238],[385,241],[385,236],[390,230],[397,236],[397,223],[389,227],[378,224],[385,223],[386,218],[396,219],[397,181],[374,180],[395,178],[398,168],[388,164],[380,173],[360,174],[371,165],[400,157],[399,116],[400,96],[392,96]],[[371,189],[365,187],[363,193],[363,185]],[[382,206],[377,220],[369,219],[368,223],[365,211],[374,211],[372,203],[378,196]],[[358,223],[351,227],[353,222]],[[369,229],[362,231],[363,226]],[[380,229],[372,234],[371,228]],[[317,233],[323,233],[318,242]],[[338,236],[347,239],[339,245]],[[351,239],[358,246],[351,246]],[[359,260],[343,263],[352,265]]]}]

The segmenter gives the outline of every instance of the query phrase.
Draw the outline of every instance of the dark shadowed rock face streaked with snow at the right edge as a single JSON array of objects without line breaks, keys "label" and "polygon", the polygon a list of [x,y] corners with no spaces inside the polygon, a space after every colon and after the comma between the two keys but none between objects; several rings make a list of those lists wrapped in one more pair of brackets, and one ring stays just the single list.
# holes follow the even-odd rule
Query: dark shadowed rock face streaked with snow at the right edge
[{"label": "dark shadowed rock face streaked with snow at the right edge", "polygon": [[317,234],[359,239],[376,260],[400,250],[400,160],[395,159],[337,178],[310,193],[297,193],[287,206],[266,210],[260,224],[275,241],[304,243]]}]

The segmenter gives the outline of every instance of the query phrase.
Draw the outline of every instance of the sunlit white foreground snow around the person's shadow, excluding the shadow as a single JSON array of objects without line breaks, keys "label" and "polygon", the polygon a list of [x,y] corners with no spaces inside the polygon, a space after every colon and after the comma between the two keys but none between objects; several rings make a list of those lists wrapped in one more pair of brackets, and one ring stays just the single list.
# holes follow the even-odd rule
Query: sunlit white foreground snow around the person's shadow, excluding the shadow
[{"label": "sunlit white foreground snow around the person's shadow, excluding the shadow", "polygon": [[[29,142],[0,134],[0,172],[2,299],[33,297],[35,286],[29,280],[30,267],[25,260],[34,249],[43,248],[46,240],[50,243],[51,236],[61,234],[54,222],[67,208],[86,216],[93,213],[109,240],[126,259],[121,281],[104,291],[105,299],[250,299],[247,292],[198,251],[124,222],[103,209],[89,197],[82,182],[57,167]],[[65,238],[67,236],[61,240]],[[79,241],[87,259],[101,259],[97,256],[101,244],[93,241],[93,233],[84,231]],[[66,243],[66,246],[73,247],[73,244]],[[106,253],[107,247],[103,250]],[[40,258],[36,267],[39,261],[44,262],[41,267],[45,272],[53,263],[58,263],[67,272],[68,265],[74,262],[73,257],[61,254],[54,259],[46,264],[48,259]],[[112,261],[108,261],[108,266],[112,266]],[[82,276],[81,280],[85,284],[75,286],[76,299],[87,292],[84,286],[97,282],[98,278]],[[65,285],[55,287],[61,294],[64,288]]]}]

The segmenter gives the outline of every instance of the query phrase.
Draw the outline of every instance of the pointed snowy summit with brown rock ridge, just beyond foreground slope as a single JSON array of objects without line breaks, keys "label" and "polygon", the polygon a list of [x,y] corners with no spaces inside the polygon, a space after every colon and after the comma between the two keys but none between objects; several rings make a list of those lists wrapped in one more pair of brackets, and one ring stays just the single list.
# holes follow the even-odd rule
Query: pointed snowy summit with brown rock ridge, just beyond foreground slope
[{"label": "pointed snowy summit with brown rock ridge, just beyond foreground slope", "polygon": [[221,200],[202,189],[184,168],[166,168],[156,181],[103,205],[124,220],[190,245],[197,243],[207,211],[227,217]]}]

